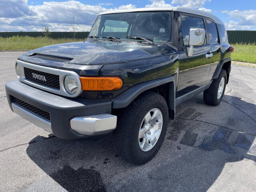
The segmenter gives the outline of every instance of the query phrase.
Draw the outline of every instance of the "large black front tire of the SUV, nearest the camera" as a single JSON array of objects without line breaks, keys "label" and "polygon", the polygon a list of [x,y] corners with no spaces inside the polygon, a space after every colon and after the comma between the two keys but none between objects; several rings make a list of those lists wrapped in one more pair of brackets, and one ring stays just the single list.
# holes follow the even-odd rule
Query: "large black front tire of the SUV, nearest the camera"
[{"label": "large black front tire of the SUV, nearest the camera", "polygon": [[[144,117],[146,115],[148,116],[150,110],[153,110],[153,114],[160,114],[156,109],[162,113],[162,116],[159,116],[162,118],[162,130],[160,134],[158,134],[158,140],[154,146],[153,142],[152,144],[150,144],[150,141],[148,142],[149,144],[147,144],[146,141],[144,142],[144,144],[148,146],[152,145],[152,148],[148,151],[143,151],[140,148],[142,144],[139,143],[141,141],[141,139],[139,139],[139,132],[141,132],[143,128],[146,130]],[[150,116],[152,112],[150,112]],[[152,122],[154,121],[152,120]],[[156,123],[158,122],[160,121],[156,120]],[[119,155],[132,164],[141,165],[150,161],[162,146],[168,122],[168,105],[161,95],[155,92],[147,92],[138,96],[129,106],[117,112],[117,127],[113,134]],[[143,128],[141,128],[141,126],[143,126]],[[154,135],[156,135],[156,132],[157,131],[154,132]],[[148,134],[150,134],[150,131]],[[146,135],[147,134],[144,133],[145,138],[142,138],[142,140],[146,140]]]}]

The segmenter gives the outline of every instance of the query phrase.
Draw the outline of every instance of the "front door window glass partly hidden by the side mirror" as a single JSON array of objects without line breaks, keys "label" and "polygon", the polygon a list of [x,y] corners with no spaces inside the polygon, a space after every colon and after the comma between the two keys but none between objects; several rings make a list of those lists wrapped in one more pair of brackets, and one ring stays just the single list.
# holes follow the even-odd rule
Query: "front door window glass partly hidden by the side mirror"
[{"label": "front door window glass partly hidden by the side mirror", "polygon": [[[204,20],[202,18],[186,16],[186,15],[181,15],[181,26],[182,26],[183,44],[185,46],[188,45],[189,32],[191,28],[205,29]],[[204,43],[206,44],[206,41]]]}]

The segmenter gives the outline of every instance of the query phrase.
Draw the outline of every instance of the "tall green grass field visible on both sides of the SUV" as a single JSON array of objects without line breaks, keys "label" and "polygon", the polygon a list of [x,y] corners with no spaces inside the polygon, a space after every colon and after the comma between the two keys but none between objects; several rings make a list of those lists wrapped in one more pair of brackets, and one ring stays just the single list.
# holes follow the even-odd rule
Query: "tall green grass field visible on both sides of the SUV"
[{"label": "tall green grass field visible on both sides of the SUV", "polygon": [[[84,40],[85,38],[74,40],[73,38],[52,39],[29,36],[0,37],[0,50],[32,50],[47,45]],[[256,44],[232,44],[232,46],[234,47],[234,52],[231,54],[233,61],[256,63]]]}]

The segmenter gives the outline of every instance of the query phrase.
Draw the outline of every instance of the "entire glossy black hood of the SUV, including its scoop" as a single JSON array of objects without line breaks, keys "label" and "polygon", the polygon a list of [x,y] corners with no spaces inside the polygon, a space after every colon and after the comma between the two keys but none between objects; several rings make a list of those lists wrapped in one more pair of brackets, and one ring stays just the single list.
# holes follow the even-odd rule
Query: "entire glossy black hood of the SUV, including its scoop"
[{"label": "entire glossy black hood of the SUV, including its scoop", "polygon": [[[73,70],[80,75],[98,75],[105,64],[132,62],[174,52],[177,49],[172,44],[152,46],[135,41],[117,43],[109,40],[87,40],[45,46],[27,52],[19,59],[42,66]],[[56,60],[56,57],[65,59]]]}]

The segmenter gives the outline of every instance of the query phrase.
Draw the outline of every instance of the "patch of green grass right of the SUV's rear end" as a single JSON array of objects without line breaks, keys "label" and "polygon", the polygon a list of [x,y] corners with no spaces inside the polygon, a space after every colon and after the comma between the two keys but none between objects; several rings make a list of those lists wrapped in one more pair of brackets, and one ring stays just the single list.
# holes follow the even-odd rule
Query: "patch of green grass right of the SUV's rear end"
[{"label": "patch of green grass right of the SUV's rear end", "polygon": [[231,53],[232,61],[256,63],[256,44],[232,44],[234,52]]}]

